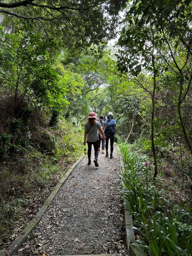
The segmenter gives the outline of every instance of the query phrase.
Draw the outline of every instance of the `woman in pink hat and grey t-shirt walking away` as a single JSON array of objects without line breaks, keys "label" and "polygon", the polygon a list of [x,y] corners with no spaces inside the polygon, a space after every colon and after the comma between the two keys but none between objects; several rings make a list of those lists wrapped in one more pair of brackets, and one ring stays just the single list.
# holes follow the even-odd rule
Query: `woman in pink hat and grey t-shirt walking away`
[{"label": "woman in pink hat and grey t-shirt walking away", "polygon": [[88,145],[88,151],[87,151],[87,156],[88,156],[88,165],[91,164],[91,148],[92,144],[94,147],[95,151],[95,159],[94,163],[95,166],[98,167],[98,155],[99,155],[99,150],[98,150],[98,143],[99,143],[99,134],[98,130],[105,139],[105,135],[102,131],[100,122],[96,121],[96,115],[94,112],[90,112],[88,116],[88,120],[84,125],[84,143],[83,145],[86,144],[86,139],[87,139],[87,145]]}]

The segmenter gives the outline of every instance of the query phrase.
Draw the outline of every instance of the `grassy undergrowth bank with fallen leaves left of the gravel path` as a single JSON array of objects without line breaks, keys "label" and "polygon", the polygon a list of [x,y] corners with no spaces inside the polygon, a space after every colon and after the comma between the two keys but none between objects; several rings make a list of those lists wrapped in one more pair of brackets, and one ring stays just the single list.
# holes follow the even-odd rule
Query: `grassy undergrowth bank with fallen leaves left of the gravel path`
[{"label": "grassy undergrowth bank with fallen leaves left of the gravel path", "polygon": [[[15,136],[15,141],[18,136]],[[0,244],[9,241],[23,221],[33,218],[67,166],[83,152],[83,132],[60,119],[34,132],[22,151],[10,151],[12,136],[3,137],[0,167]],[[17,147],[15,143],[15,147]],[[26,214],[29,214],[29,216]]]}]

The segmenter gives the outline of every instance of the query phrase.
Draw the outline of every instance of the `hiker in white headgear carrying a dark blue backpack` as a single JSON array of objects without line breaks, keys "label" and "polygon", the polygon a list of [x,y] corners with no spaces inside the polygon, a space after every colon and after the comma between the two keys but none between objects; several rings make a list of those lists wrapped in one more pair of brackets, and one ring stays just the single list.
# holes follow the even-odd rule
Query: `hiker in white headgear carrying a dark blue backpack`
[{"label": "hiker in white headgear carrying a dark blue backpack", "polygon": [[113,119],[113,113],[109,112],[108,113],[108,119],[103,122],[103,127],[102,127],[104,134],[105,134],[105,149],[106,149],[106,154],[105,156],[108,157],[108,144],[109,144],[109,139],[110,139],[110,145],[111,145],[111,153],[110,153],[110,159],[113,158],[113,143],[115,139],[115,134],[117,131],[116,128],[116,122]]}]

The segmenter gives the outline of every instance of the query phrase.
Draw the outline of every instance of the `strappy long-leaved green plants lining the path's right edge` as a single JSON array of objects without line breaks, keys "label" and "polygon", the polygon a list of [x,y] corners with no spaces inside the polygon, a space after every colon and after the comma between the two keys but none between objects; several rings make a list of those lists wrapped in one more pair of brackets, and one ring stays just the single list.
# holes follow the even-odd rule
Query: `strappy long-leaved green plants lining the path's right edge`
[{"label": "strappy long-leaved green plants lining the path's right edge", "polygon": [[192,255],[192,214],[170,207],[164,199],[166,192],[145,166],[146,155],[127,143],[120,143],[119,148],[125,163],[122,195],[130,204],[134,229],[143,237],[136,241],[150,256]]}]

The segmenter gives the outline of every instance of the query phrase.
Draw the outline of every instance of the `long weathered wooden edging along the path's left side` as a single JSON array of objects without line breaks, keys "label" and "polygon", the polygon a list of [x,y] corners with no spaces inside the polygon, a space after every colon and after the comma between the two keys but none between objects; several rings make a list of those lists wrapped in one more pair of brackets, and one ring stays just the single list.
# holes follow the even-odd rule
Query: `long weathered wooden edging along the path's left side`
[{"label": "long weathered wooden edging along the path's left side", "polygon": [[6,256],[6,251],[9,251],[9,255],[12,256],[13,253],[17,252],[17,250],[22,246],[22,244],[26,241],[28,235],[34,230],[34,228],[37,226],[39,221],[41,220],[42,216],[44,215],[44,212],[46,212],[47,207],[52,202],[55,195],[58,193],[59,189],[63,185],[63,183],[68,179],[70,174],[73,172],[73,170],[78,166],[78,164],[81,162],[81,160],[84,158],[84,155],[81,156],[71,167],[70,169],[65,173],[65,175],[61,178],[61,180],[58,182],[58,184],[55,186],[43,206],[39,209],[38,213],[35,215],[35,217],[32,219],[32,221],[25,227],[22,234],[20,234],[13,242],[9,245],[7,249],[0,250],[0,256]]}]

